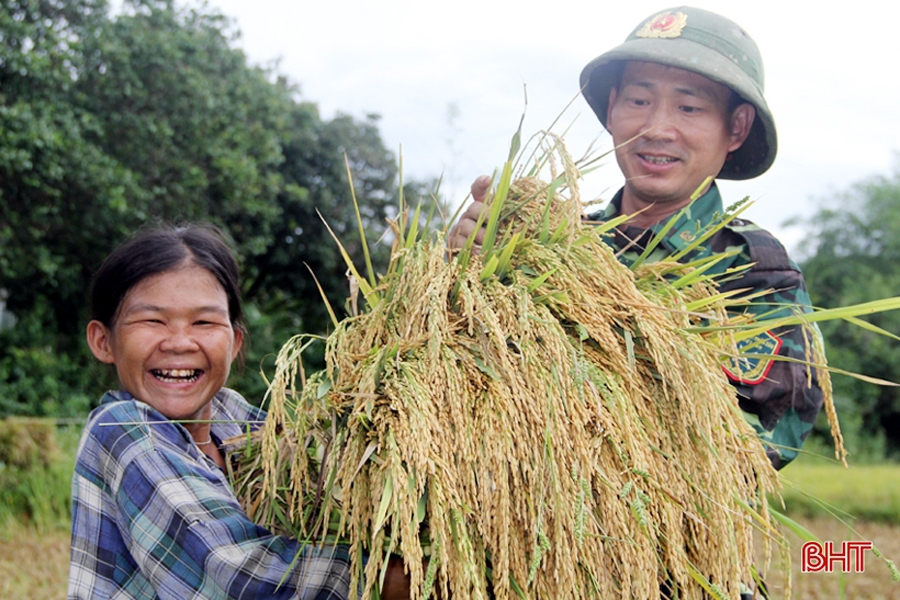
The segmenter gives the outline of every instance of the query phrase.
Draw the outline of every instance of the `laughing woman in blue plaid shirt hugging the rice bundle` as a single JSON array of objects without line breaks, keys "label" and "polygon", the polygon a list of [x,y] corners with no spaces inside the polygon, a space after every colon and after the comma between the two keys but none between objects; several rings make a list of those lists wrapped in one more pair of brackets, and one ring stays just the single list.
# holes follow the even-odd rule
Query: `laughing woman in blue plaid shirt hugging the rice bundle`
[{"label": "laughing woman in blue plaid shirt hugging the rice bundle", "polygon": [[[244,339],[239,289],[207,226],[144,231],[95,274],[87,342],[119,390],[78,448],[69,598],[349,596],[346,547],[269,533],[225,476],[222,440],[265,418],[223,387]],[[390,565],[384,597],[408,597]]]}]

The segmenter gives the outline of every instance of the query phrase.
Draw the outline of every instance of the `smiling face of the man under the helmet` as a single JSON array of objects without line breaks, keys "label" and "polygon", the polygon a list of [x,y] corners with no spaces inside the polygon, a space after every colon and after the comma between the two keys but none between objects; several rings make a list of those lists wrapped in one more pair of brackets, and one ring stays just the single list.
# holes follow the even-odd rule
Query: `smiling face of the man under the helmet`
[{"label": "smiling face of the man under the helmet", "polygon": [[755,109],[729,112],[731,91],[703,75],[629,61],[610,92],[606,127],[631,206],[686,205],[750,132]]}]

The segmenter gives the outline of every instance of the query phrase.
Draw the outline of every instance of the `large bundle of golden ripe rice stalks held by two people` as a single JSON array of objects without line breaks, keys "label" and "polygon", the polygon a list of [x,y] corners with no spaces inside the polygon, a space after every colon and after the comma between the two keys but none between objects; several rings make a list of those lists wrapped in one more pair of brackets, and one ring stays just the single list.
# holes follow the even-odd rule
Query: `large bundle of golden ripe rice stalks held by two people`
[{"label": "large bundle of golden ripe rice stalks held by two people", "polygon": [[397,553],[413,598],[736,598],[754,532],[778,537],[777,475],[721,367],[734,340],[694,330],[733,300],[689,267],[623,267],[561,156],[549,184],[507,163],[480,252],[393,223],[327,368],[304,372],[311,336],[278,355],[238,496],[349,544],[371,597]]}]

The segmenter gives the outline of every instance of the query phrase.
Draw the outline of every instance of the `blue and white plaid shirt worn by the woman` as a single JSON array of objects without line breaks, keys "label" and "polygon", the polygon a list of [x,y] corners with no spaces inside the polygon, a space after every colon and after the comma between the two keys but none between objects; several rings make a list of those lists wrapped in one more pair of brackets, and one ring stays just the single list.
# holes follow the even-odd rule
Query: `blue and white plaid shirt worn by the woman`
[{"label": "blue and white plaid shirt worn by the woman", "polygon": [[[265,413],[213,398],[221,440]],[[258,425],[251,425],[253,428]],[[69,598],[347,598],[346,547],[300,547],[254,524],[190,433],[124,392],[91,413],[72,481]],[[299,557],[298,557],[299,554]],[[283,581],[283,583],[281,583]]]}]

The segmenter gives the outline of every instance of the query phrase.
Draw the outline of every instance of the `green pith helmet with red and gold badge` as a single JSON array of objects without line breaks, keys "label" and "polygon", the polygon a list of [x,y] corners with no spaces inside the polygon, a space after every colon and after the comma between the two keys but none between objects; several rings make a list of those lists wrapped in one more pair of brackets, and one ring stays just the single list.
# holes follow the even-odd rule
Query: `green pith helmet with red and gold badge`
[{"label": "green pith helmet with red and gold badge", "polygon": [[775,160],[775,121],[763,98],[762,57],[739,25],[709,11],[681,6],[644,21],[623,44],[592,60],[581,72],[581,91],[606,127],[609,92],[625,61],[641,60],[699,73],[756,107],[744,144],[719,172],[722,179],[750,179]]}]

